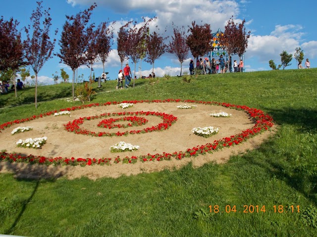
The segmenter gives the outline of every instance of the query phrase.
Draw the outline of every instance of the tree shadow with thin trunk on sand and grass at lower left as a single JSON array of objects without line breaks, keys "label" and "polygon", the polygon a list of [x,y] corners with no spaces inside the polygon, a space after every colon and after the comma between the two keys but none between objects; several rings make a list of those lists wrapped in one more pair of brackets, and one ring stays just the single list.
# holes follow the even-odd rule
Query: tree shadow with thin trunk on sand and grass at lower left
[{"label": "tree shadow with thin trunk on sand and grass at lower left", "polygon": [[18,181],[27,181],[30,183],[35,183],[32,193],[25,201],[23,201],[19,214],[16,216],[10,228],[8,228],[4,232],[5,235],[9,235],[14,231],[25,209],[27,208],[27,205],[31,203],[32,198],[36,194],[40,182],[54,182],[57,178],[62,177],[65,173],[67,173],[67,167],[63,170],[59,169],[58,167],[60,166],[0,162],[0,171],[14,173],[14,177]]}]

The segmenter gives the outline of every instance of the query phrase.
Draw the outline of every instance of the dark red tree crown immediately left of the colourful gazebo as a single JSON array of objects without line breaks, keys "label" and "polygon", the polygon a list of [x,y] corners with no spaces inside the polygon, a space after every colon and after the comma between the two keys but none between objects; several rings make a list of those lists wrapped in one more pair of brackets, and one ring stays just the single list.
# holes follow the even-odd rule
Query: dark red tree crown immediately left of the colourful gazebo
[{"label": "dark red tree crown immediately left of the colourful gazebo", "polygon": [[211,50],[210,41],[212,36],[210,25],[197,25],[196,22],[193,21],[192,27],[189,27],[188,32],[190,32],[190,34],[186,42],[194,58],[206,55]]}]

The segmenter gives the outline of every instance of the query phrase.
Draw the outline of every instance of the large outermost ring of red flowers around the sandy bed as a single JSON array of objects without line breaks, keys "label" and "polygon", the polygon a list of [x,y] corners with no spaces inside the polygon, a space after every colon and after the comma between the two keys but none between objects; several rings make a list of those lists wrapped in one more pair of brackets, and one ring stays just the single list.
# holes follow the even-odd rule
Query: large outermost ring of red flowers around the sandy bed
[{"label": "large outermost ring of red flowers around the sandy bed", "polygon": [[[266,130],[269,130],[270,127],[272,127],[273,124],[273,118],[271,118],[269,115],[266,115],[263,111],[256,109],[256,108],[250,108],[245,105],[233,105],[229,103],[220,103],[215,101],[195,101],[195,100],[181,100],[181,99],[166,99],[166,100],[141,100],[141,101],[122,101],[122,102],[106,102],[106,103],[96,103],[96,104],[89,104],[89,105],[81,105],[81,106],[73,106],[66,109],[61,109],[60,111],[74,111],[74,110],[80,110],[90,107],[97,107],[97,106],[108,106],[108,105],[117,105],[120,103],[168,103],[168,102],[184,102],[184,103],[195,103],[195,104],[205,104],[205,105],[216,105],[216,106],[222,106],[225,108],[231,108],[236,110],[242,110],[245,111],[247,114],[249,114],[250,118],[252,118],[255,122],[255,125],[251,129],[244,130],[238,134],[232,135],[230,137],[224,137],[219,140],[215,140],[213,143],[207,143],[204,145],[198,145],[193,148],[188,148],[186,151],[180,151],[180,152],[174,152],[172,154],[163,152],[162,154],[147,154],[147,155],[141,155],[139,157],[132,156],[132,157],[125,157],[120,158],[119,156],[117,158],[113,159],[113,163],[119,163],[122,161],[123,163],[135,163],[136,160],[140,160],[142,162],[146,161],[160,161],[160,160],[170,160],[172,158],[175,159],[182,159],[186,157],[196,157],[198,155],[204,155],[206,153],[212,153],[213,151],[217,151],[219,149],[222,149],[224,147],[231,147],[234,145],[238,145],[242,142],[245,142],[246,140],[250,139],[251,137],[256,136],[257,134],[260,134]],[[0,129],[8,128],[14,124],[19,124],[22,122],[32,121],[37,118],[43,118],[46,116],[50,116],[57,111],[51,111],[40,115],[34,115],[30,118],[23,118],[23,119],[17,119],[14,121],[6,122],[0,125]],[[2,161],[9,161],[9,162],[26,162],[26,163],[40,163],[40,164],[70,164],[70,165],[92,165],[92,164],[109,164],[112,160],[112,158],[62,158],[62,157],[56,157],[56,158],[46,158],[42,156],[21,156],[19,154],[12,154],[12,153],[6,153],[1,152],[0,158]]]}]

